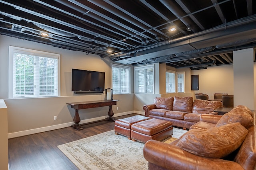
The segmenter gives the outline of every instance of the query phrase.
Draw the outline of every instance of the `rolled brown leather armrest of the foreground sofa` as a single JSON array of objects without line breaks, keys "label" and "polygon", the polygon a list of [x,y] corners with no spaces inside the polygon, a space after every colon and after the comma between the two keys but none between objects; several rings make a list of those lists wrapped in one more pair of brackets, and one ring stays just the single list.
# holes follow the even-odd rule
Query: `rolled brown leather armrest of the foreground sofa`
[{"label": "rolled brown leather armrest of the foreground sofa", "polygon": [[148,162],[167,170],[243,170],[236,162],[197,156],[176,145],[155,140],[145,143],[143,154]]}]

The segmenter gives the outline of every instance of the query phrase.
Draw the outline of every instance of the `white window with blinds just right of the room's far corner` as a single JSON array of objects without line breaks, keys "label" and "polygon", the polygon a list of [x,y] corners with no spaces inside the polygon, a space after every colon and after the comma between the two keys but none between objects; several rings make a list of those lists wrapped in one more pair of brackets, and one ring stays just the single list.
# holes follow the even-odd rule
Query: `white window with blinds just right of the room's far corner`
[{"label": "white window with blinds just right of the room's far corner", "polygon": [[134,92],[154,94],[154,65],[134,67]]}]

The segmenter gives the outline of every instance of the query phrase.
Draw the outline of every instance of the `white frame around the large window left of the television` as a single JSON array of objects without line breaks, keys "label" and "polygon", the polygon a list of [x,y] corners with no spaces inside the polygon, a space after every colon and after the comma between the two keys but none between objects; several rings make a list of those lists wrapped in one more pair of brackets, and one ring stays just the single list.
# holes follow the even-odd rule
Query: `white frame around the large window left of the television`
[{"label": "white frame around the large window left of the television", "polygon": [[[31,96],[15,96],[13,95],[13,88],[14,88],[14,53],[22,53],[22,54],[27,54],[27,55],[34,55],[38,57],[47,57],[47,58],[53,58],[58,60],[58,80],[57,80],[57,95],[46,95],[46,96],[35,96],[35,93]],[[39,91],[39,90],[38,90]],[[14,47],[14,46],[9,46],[9,89],[8,89],[8,98],[45,98],[45,97],[58,97],[60,96],[60,54],[56,53],[49,53],[45,51],[38,51],[38,50],[33,50],[33,49],[26,49],[26,48],[21,48],[21,47]]]}]

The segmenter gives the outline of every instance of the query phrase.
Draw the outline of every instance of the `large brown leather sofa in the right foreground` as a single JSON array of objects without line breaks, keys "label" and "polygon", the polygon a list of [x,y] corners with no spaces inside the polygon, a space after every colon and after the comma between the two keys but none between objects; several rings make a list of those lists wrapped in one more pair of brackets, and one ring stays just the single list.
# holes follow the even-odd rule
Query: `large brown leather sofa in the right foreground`
[{"label": "large brown leather sofa in the right foreground", "polygon": [[237,106],[220,115],[201,115],[180,139],[144,145],[149,170],[256,170],[255,113]]}]

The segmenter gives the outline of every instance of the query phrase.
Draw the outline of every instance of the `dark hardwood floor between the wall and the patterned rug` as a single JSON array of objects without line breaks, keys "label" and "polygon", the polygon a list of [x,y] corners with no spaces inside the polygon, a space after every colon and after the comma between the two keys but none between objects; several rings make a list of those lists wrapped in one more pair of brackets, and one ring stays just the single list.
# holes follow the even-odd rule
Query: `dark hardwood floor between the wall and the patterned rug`
[{"label": "dark hardwood floor between the wall and the patterned rug", "polygon": [[[116,119],[130,117],[130,114]],[[113,121],[100,121],[82,126],[78,131],[66,127],[53,131],[8,139],[10,170],[78,170],[58,145],[114,129]]]}]

